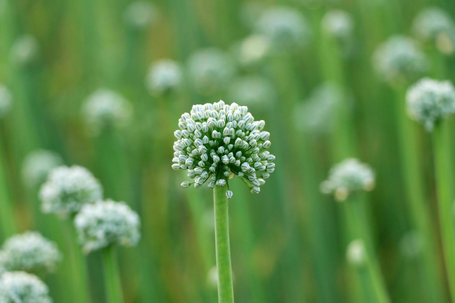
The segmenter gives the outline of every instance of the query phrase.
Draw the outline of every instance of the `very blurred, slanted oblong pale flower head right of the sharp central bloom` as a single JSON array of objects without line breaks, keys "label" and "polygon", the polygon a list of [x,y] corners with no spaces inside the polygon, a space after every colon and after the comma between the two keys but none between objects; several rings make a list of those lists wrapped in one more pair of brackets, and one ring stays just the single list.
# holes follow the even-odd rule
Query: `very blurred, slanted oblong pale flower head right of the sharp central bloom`
[{"label": "very blurred, slanted oblong pale flower head right of the sharp central bloom", "polygon": [[296,106],[294,120],[297,128],[315,135],[330,133],[334,128],[334,113],[342,94],[334,83],[319,85],[303,104]]}]

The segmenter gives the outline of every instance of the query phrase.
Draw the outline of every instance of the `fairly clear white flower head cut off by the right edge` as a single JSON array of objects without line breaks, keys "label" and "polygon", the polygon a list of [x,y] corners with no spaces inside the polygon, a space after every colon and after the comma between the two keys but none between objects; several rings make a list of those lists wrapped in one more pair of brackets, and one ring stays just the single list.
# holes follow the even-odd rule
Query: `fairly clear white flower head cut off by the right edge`
[{"label": "fairly clear white flower head cut off by the right edge", "polygon": [[406,94],[408,114],[429,131],[435,122],[455,112],[455,89],[450,81],[420,79]]}]

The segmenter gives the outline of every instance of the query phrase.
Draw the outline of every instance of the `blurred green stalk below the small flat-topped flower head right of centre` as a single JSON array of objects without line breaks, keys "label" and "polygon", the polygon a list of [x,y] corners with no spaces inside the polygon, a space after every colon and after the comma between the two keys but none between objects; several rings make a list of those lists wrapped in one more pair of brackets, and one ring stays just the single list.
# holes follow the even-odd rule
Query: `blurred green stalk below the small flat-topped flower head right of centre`
[{"label": "blurred green stalk below the small flat-topped flower head right of centre", "polygon": [[[351,237],[352,239],[359,238],[363,240],[365,245],[365,266],[368,274],[360,275],[360,278],[361,280],[364,280],[365,278],[369,280],[368,283],[371,285],[376,302],[389,303],[390,299],[379,269],[379,263],[372,253],[373,240],[368,232],[369,228],[365,221],[365,214],[361,203],[364,203],[361,194],[354,194],[344,202],[346,205],[346,214],[350,226]],[[365,288],[364,286],[366,284],[365,281],[362,281],[363,288]],[[367,289],[364,289],[364,293],[367,296],[371,296],[371,293]]]}]

